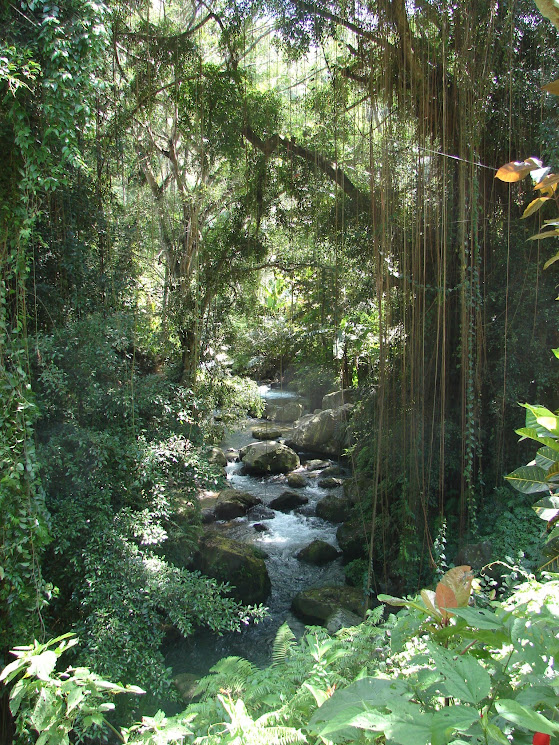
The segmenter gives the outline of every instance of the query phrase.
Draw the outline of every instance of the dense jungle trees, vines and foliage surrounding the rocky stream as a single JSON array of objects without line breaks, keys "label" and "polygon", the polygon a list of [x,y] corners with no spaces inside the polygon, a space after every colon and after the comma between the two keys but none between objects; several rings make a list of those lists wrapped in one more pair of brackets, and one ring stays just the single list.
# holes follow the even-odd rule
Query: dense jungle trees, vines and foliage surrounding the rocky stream
[{"label": "dense jungle trees, vines and foliage surrounding the rocky stream", "polygon": [[[0,29],[2,739],[556,741],[553,23],[13,0]],[[357,391],[348,576],[405,607],[282,627],[270,667],[223,660],[167,717],[169,628],[265,613],[166,554],[263,380],[311,410]]]}]

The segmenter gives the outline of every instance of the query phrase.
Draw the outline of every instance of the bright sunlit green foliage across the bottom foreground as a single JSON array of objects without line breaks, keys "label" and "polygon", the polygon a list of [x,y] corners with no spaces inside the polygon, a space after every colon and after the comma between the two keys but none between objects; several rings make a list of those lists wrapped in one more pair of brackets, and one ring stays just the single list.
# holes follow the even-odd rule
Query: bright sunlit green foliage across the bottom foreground
[{"label": "bright sunlit green foliage across the bottom foreground", "polygon": [[[382,626],[376,625],[382,611],[375,612],[334,636],[310,628],[296,644],[282,628],[271,667],[221,660],[200,681],[199,702],[174,722],[163,723],[159,715],[161,736],[178,723],[189,728],[181,734],[196,745],[364,745],[382,736],[395,745],[505,745],[529,742],[534,732],[556,736],[552,661],[559,652],[559,581],[526,578],[506,601],[482,607],[475,598],[468,603],[471,575],[465,569],[446,573],[435,591],[418,598],[388,598],[406,609]],[[51,712],[62,731],[72,733],[94,709],[102,726],[99,689],[124,692],[100,684],[89,671],[79,672],[87,683],[74,669],[54,673],[64,645],[59,639],[48,648],[16,650],[18,660],[4,671],[11,679],[25,673],[12,689],[21,731],[36,724],[38,711]],[[66,679],[71,682],[64,688]],[[56,696],[41,695],[53,685]],[[76,688],[75,707],[56,705],[57,697]]]}]

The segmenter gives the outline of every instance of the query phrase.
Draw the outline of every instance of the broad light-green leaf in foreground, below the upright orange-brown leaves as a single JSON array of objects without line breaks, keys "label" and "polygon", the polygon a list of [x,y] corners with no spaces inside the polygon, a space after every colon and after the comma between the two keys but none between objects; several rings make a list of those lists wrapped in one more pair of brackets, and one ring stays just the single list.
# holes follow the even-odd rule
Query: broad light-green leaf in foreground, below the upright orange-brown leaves
[{"label": "broad light-green leaf in foreground, below the upright orange-brown leaves", "polygon": [[442,647],[429,645],[437,670],[446,678],[446,694],[478,704],[491,689],[487,670],[471,655],[453,655]]}]

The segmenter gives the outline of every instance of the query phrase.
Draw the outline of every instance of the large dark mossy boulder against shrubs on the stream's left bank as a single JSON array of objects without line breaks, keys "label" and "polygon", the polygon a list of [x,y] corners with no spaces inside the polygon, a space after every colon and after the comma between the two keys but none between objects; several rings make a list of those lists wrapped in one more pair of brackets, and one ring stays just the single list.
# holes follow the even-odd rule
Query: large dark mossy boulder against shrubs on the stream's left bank
[{"label": "large dark mossy boulder against shrubs on the stream's left bank", "polygon": [[214,531],[200,539],[193,568],[218,582],[229,582],[232,597],[247,605],[265,602],[272,589],[266,564],[251,546]]}]

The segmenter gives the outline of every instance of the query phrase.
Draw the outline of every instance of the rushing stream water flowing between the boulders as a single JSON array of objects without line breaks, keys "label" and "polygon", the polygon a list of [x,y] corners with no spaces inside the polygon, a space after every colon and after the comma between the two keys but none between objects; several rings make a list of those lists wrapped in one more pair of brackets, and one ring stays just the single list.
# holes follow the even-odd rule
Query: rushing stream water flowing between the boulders
[{"label": "rushing stream water flowing between the boulders", "polygon": [[[264,386],[261,387],[261,394],[266,400],[274,402],[293,398],[293,394]],[[252,442],[257,442],[252,437],[251,430],[256,426],[266,425],[276,426],[265,419],[247,419],[241,427],[226,436],[221,448],[224,451],[228,448],[239,450]],[[286,425],[285,428],[288,427],[289,425]],[[315,454],[299,455],[303,464],[308,459],[320,457]],[[264,507],[289,488],[284,475],[262,477],[243,474],[241,462],[230,462],[226,470],[229,486],[250,492],[262,500]],[[295,558],[300,549],[317,538],[338,547],[338,526],[317,517],[315,508],[317,502],[327,494],[339,493],[341,489],[338,487],[335,490],[326,490],[317,486],[320,471],[307,471],[304,465],[298,471],[308,477],[307,485],[297,489],[298,493],[309,500],[303,507],[288,513],[273,510],[272,519],[251,519],[249,516],[236,518],[228,523],[215,524],[227,537],[249,543],[267,554],[266,566],[272,583],[272,592],[266,601],[269,616],[258,624],[247,626],[241,632],[218,636],[200,630],[188,639],[174,642],[166,648],[167,664],[172,668],[174,675],[205,675],[219,659],[231,655],[244,657],[259,667],[269,664],[274,638],[284,622],[287,621],[297,637],[303,633],[304,624],[290,611],[293,597],[310,587],[344,584],[341,559],[336,559],[323,567],[316,567]],[[256,523],[264,525],[266,530],[258,532],[254,528]]]}]

